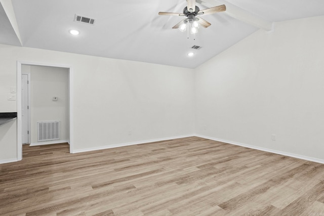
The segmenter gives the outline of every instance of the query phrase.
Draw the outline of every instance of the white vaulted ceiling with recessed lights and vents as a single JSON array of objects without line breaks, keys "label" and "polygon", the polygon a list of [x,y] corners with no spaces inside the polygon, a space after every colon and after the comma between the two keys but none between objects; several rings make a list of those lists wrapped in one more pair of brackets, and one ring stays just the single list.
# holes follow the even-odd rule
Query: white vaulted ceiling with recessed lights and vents
[{"label": "white vaulted ceiling with recessed lights and vents", "polygon": [[[225,4],[226,12],[204,16],[212,25],[195,40],[172,29],[185,0],[0,0],[0,43],[92,56],[195,68],[272,23],[324,15],[323,0],[197,0],[200,10]],[[74,22],[74,15],[95,24]],[[70,29],[80,34],[73,36]],[[193,45],[201,49],[193,50]],[[194,51],[193,57],[187,53]]]}]

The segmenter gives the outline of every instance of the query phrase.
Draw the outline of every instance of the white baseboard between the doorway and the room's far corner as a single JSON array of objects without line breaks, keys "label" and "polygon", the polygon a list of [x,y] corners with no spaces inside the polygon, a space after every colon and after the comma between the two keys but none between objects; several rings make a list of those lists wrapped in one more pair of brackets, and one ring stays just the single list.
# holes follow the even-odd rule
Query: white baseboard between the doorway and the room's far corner
[{"label": "white baseboard between the doorway and the room's far corner", "polygon": [[194,135],[190,134],[190,135],[183,135],[183,136],[176,136],[176,137],[166,137],[166,138],[153,139],[153,140],[136,141],[136,142],[130,142],[130,143],[113,144],[113,145],[109,145],[109,146],[98,146],[98,147],[93,147],[93,148],[73,150],[72,153],[80,153],[80,152],[88,152],[88,151],[95,151],[95,150],[102,150],[102,149],[117,148],[117,147],[123,147],[123,146],[139,145],[139,144],[153,143],[153,142],[158,142],[158,141],[166,141],[166,140],[173,140],[173,139],[180,139],[180,138],[187,138],[187,137],[193,137],[193,136]]}]

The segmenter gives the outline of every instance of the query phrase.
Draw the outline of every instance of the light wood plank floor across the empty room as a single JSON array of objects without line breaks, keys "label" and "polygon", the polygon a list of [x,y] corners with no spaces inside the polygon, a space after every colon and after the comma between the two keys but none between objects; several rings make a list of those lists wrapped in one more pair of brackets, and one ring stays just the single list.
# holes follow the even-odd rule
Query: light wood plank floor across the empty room
[{"label": "light wood plank floor across the empty room", "polygon": [[0,215],[324,215],[324,164],[197,137],[0,164]]}]

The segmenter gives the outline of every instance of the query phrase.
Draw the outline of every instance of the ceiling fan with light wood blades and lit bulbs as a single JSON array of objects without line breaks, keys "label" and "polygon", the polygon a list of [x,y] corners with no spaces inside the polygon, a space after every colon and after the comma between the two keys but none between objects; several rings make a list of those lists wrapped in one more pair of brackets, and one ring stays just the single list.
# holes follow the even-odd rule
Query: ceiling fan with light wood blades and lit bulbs
[{"label": "ceiling fan with light wood blades and lit bulbs", "polygon": [[[188,23],[191,26],[191,33],[194,34],[197,32],[199,26],[207,28],[211,25],[208,21],[203,18],[196,17],[197,15],[203,16],[208,14],[214,14],[218,12],[226,11],[225,5],[216,6],[213,8],[208,8],[201,10],[196,6],[196,0],[187,0],[187,7],[183,9],[183,13],[170,13],[170,12],[158,12],[158,15],[169,15],[169,16],[186,16],[186,19],[181,20],[178,24],[172,28],[179,28],[180,31],[185,31],[188,27]],[[189,31],[189,29],[188,29]]]}]

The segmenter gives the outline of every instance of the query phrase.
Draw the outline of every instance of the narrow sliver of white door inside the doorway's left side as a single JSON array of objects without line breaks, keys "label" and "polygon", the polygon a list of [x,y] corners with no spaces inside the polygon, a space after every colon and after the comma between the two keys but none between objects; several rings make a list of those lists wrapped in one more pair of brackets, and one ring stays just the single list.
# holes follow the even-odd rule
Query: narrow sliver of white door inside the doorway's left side
[{"label": "narrow sliver of white door inside the doorway's left side", "polygon": [[22,125],[22,143],[29,143],[28,140],[28,75],[21,74],[21,125]]}]

